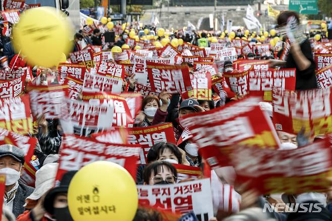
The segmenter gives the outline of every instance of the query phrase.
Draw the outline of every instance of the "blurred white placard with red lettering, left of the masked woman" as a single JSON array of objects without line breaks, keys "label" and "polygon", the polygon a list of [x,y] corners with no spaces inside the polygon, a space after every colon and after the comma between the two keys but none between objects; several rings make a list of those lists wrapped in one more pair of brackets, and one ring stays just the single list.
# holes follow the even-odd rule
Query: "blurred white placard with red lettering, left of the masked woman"
[{"label": "blurred white placard with red lettering, left of the masked woman", "polygon": [[90,104],[80,100],[66,99],[62,106],[61,126],[65,133],[89,136],[106,130],[113,124],[112,104]]}]

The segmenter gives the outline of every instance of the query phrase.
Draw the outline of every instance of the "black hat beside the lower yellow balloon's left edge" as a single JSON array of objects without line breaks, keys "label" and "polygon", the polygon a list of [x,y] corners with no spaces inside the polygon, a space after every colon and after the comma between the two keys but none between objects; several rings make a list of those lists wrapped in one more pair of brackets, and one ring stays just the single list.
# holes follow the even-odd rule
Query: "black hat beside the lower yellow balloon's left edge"
[{"label": "black hat beside the lower yellow balloon's left edge", "polygon": [[54,198],[58,193],[68,192],[69,184],[76,173],[77,171],[68,171],[66,174],[63,175],[62,180],[60,182],[60,186],[50,189],[50,191],[46,194],[44,200],[44,208],[49,214],[53,215],[54,213],[54,208],[53,208]]}]

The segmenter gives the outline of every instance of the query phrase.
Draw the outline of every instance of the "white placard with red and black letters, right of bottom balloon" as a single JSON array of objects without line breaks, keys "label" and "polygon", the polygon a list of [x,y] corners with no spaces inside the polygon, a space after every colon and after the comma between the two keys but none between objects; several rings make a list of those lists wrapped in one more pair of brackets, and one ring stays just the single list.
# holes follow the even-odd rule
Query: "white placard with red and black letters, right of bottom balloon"
[{"label": "white placard with red and black letters, right of bottom balloon", "polygon": [[174,185],[137,185],[138,203],[182,214],[194,211],[196,216],[213,217],[209,179]]}]

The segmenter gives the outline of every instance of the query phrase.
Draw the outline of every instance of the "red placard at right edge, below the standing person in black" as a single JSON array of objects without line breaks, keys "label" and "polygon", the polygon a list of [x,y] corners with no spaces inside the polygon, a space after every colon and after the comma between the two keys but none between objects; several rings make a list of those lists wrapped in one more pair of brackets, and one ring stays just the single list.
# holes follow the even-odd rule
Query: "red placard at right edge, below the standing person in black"
[{"label": "red placard at right edge, below the standing person in black", "polygon": [[302,128],[314,136],[332,132],[331,88],[306,91],[272,91],[276,130],[297,134]]}]

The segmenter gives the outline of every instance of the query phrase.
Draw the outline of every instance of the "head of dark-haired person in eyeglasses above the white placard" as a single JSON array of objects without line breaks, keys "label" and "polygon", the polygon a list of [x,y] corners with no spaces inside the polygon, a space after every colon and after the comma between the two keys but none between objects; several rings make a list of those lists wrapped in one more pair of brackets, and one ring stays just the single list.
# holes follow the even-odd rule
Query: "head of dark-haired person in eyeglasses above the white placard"
[{"label": "head of dark-haired person in eyeglasses above the white placard", "polygon": [[154,161],[143,171],[144,185],[175,184],[177,178],[177,169],[166,161]]}]

